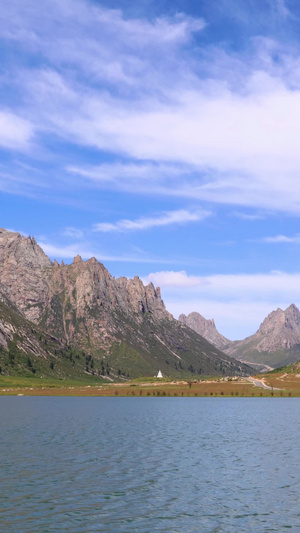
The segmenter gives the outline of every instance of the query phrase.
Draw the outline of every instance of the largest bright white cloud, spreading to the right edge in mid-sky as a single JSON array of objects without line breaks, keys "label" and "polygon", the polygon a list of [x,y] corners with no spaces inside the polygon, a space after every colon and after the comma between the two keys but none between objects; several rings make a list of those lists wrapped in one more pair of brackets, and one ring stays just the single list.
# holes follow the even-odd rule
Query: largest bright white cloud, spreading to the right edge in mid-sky
[{"label": "largest bright white cloud, spreading to the right edge in mid-sky", "polygon": [[271,92],[251,88],[243,96],[222,87],[209,96],[205,88],[180,88],[176,104],[145,100],[143,109],[90,100],[85,117],[77,115],[66,126],[72,128],[68,135],[102,149],[113,146],[133,159],[158,161],[165,172],[142,162],[70,170],[131,192],[298,212],[300,122],[294,110],[300,91],[280,80],[274,84]]}]

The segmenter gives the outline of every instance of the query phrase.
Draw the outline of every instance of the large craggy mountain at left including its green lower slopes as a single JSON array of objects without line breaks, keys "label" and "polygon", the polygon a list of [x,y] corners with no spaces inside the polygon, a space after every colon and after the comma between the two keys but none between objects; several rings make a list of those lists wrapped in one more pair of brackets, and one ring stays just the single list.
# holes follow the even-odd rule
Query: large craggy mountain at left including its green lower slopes
[{"label": "large craggy mountain at left including its green lower slopes", "polygon": [[[60,350],[62,357],[73,350],[73,369],[107,379],[153,376],[158,370],[174,377],[251,371],[175,320],[152,283],[144,286],[137,276],[115,279],[95,258],[82,261],[77,256],[70,265],[52,263],[34,238],[3,229],[0,300],[6,313],[2,326],[6,332],[14,328],[9,342],[29,357],[44,357],[48,367],[55,356],[54,369],[59,367]],[[15,314],[9,316],[8,310]],[[23,343],[20,331],[26,330],[30,337],[33,323],[40,331],[38,339],[50,335],[52,343],[58,343],[55,347],[47,341],[54,352],[44,347],[40,353],[30,351],[30,343]],[[0,363],[3,371],[11,372],[12,365],[5,363],[7,339],[6,333]],[[63,368],[69,375],[66,365]]]}]

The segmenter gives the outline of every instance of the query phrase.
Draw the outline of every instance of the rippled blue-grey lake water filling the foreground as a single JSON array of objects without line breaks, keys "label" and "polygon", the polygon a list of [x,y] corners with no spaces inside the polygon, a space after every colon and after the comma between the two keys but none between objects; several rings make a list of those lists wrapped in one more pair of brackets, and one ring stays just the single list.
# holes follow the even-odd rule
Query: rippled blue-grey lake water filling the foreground
[{"label": "rippled blue-grey lake water filling the foreground", "polygon": [[300,531],[300,400],[0,398],[0,531]]}]

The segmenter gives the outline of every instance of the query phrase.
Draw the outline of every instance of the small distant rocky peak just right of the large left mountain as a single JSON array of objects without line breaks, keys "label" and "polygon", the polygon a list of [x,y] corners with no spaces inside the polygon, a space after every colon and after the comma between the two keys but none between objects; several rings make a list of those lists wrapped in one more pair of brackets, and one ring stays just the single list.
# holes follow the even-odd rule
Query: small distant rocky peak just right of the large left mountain
[{"label": "small distant rocky peak just right of the large left mountain", "polygon": [[188,316],[184,314],[180,315],[179,321],[199,333],[199,335],[202,335],[202,337],[220,350],[223,350],[223,348],[230,343],[226,337],[223,337],[223,335],[218,332],[214,319],[207,320],[200,315],[200,313],[193,312]]}]

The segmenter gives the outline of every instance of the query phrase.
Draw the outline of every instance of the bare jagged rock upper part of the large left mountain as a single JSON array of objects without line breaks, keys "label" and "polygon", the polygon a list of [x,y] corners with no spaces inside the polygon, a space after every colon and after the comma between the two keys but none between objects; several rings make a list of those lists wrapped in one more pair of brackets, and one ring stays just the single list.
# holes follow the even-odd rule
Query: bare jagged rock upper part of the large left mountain
[{"label": "bare jagged rock upper part of the large left mountain", "polygon": [[144,286],[138,276],[115,279],[95,257],[83,261],[77,255],[71,264],[62,261],[59,266],[31,236],[1,230],[0,266],[0,284],[18,311],[49,331],[58,331],[68,342],[83,335],[83,330],[77,331],[79,321],[102,345],[108,332],[114,335],[115,312],[135,316],[138,323],[150,315],[153,321],[172,319],[152,283]]}]

